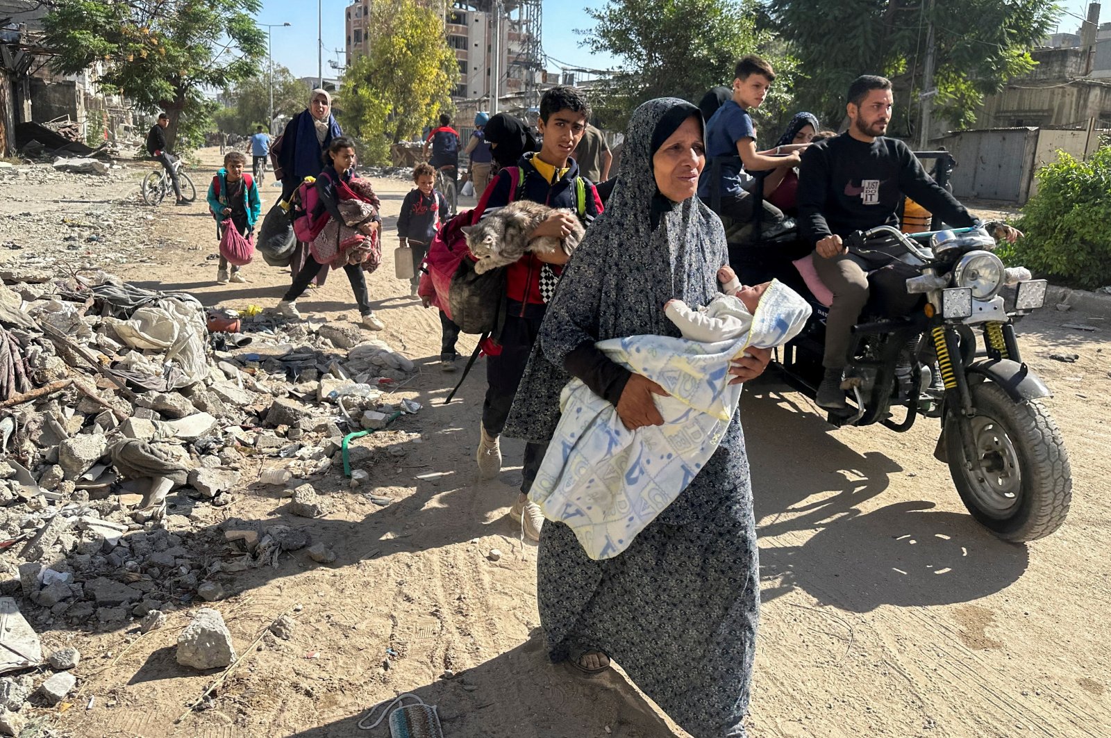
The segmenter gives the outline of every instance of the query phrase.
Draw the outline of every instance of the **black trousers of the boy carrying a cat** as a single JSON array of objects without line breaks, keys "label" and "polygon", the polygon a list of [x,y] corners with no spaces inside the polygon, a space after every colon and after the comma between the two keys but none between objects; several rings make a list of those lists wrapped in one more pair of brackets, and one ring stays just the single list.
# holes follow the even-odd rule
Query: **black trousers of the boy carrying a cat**
[{"label": "black trousers of the boy carrying a cat", "polygon": [[[501,353],[487,357],[487,395],[482,402],[482,427],[491,436],[500,436],[501,429],[506,427],[506,419],[513,405],[517,387],[524,376],[532,345],[540,335],[541,318],[521,318],[512,315],[512,310],[510,312],[511,315],[506,316],[506,326],[499,339]],[[527,495],[532,487],[532,480],[537,478],[540,461],[543,460],[547,450],[547,443],[524,445],[522,493]]]}]

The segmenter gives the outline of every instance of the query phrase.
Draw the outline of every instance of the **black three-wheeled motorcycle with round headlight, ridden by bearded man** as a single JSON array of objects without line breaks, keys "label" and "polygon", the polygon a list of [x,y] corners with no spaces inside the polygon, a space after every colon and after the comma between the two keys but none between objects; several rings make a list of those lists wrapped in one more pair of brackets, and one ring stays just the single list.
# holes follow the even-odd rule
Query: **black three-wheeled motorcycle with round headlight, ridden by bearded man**
[{"label": "black three-wheeled motorcycle with round headlight, ridden by bearded man", "polygon": [[[1040,401],[1050,391],[1022,361],[1014,332],[1019,320],[1044,303],[1045,280],[1004,268],[983,227],[908,236],[881,226],[853,233],[845,245],[871,263],[882,255],[905,272],[907,291],[921,296],[921,307],[887,316],[873,286],[852,330],[842,382],[850,409],[831,412],[829,422],[879,423],[905,432],[919,417],[938,419],[934,457],[949,465],[969,512],[1003,540],[1052,533],[1064,522],[1072,497],[1069,455]],[[779,277],[811,301],[807,327],[773,362],[791,385],[814,398],[828,308],[798,273],[744,263],[734,268],[747,283]]]}]

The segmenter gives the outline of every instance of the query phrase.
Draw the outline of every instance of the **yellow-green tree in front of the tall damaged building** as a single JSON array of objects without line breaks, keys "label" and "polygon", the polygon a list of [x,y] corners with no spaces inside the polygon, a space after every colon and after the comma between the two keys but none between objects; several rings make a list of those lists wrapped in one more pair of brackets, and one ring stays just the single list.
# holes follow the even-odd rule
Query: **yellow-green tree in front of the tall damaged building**
[{"label": "yellow-green tree in front of the tall damaged building", "polygon": [[336,103],[344,132],[361,139],[360,159],[388,163],[390,143],[418,136],[451,109],[459,62],[444,36],[444,2],[373,6],[370,53],[343,73]]}]

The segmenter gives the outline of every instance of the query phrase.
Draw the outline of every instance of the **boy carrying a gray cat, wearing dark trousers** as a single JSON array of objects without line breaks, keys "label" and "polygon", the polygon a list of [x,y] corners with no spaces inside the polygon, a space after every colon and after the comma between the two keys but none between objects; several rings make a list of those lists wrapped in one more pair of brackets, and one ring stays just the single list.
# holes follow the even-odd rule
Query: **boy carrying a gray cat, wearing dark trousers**
[{"label": "boy carrying a gray cat, wearing dark trousers", "polygon": [[[537,123],[543,136],[543,146],[540,151],[521,157],[518,163],[521,177],[516,193],[510,191],[509,169],[502,169],[498,173],[479,200],[477,217],[494,212],[513,200],[531,200],[580,212],[580,202],[577,201],[579,166],[571,158],[571,152],[582,139],[589,117],[590,102],[580,90],[559,86],[544,92],[540,99],[540,120]],[[602,212],[602,202],[592,182],[583,180],[582,183],[584,202],[581,203],[580,217],[583,225],[589,226]],[[575,217],[567,212],[553,213],[532,231],[532,238],[548,236],[564,239],[573,230]],[[567,260],[568,255],[562,250],[528,252],[506,269],[506,322],[497,345],[491,347],[497,353],[487,352],[487,392],[482,403],[477,459],[479,473],[483,479],[493,479],[501,471],[499,436],[540,331],[548,298]],[[544,443],[526,445],[521,495],[510,510],[510,517],[522,520],[524,533],[532,540],[540,539],[543,515],[526,495],[537,476],[546,449]]]}]

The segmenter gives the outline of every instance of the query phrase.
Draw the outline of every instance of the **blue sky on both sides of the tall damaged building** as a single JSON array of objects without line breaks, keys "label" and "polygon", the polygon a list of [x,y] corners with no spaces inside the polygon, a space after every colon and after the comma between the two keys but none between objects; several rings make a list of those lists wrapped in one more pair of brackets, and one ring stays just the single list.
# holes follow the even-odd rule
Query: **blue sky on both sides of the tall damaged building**
[{"label": "blue sky on both sides of the tall damaged building", "polygon": [[[328,60],[343,62],[343,13],[350,4],[349,0],[321,0],[323,18],[324,77],[336,77]],[[589,28],[590,18],[582,12],[583,8],[603,6],[603,0],[590,0],[575,9],[568,11],[568,2],[544,0],[544,24],[542,42],[544,53],[560,61],[581,67],[607,69],[615,64],[615,60],[591,54],[578,46],[582,37],[573,29]],[[273,33],[273,57],[276,64],[288,67],[296,77],[317,74],[317,3],[311,0],[263,0],[262,11],[258,14],[259,23],[284,23],[289,28],[271,29]],[[341,53],[337,54],[336,49]],[[554,63],[549,69],[556,70]]]}]

